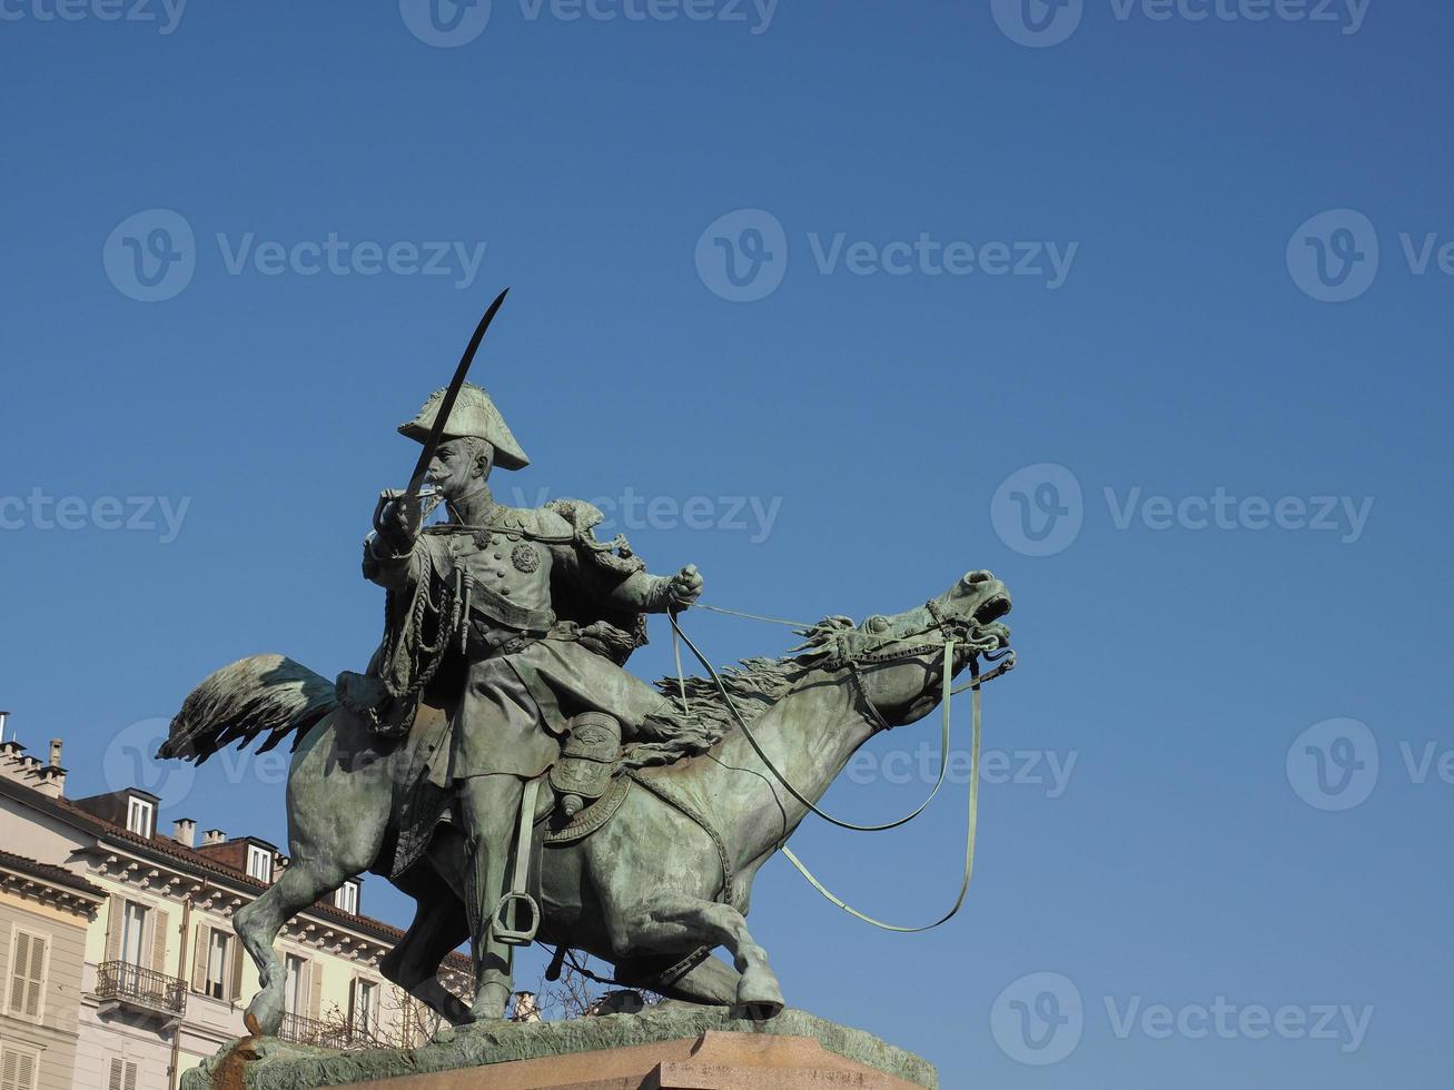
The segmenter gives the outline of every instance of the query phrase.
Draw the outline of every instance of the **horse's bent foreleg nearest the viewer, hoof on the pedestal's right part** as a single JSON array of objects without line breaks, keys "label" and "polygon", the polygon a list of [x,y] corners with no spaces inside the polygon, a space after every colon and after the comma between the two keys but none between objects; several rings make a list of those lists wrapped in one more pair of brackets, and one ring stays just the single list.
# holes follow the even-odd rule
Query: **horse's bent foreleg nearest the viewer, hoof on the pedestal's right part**
[{"label": "horse's bent foreleg nearest the viewer, hoof on the pedestal's right part", "polygon": [[[615,924],[612,933],[621,958],[653,948],[726,946],[742,974],[733,997],[736,1003],[755,1017],[772,1017],[782,1010],[782,988],[768,966],[768,952],[752,937],[743,914],[730,905],[695,897],[653,900]],[[720,974],[715,978],[712,974],[705,969],[701,985],[718,996],[723,981]]]}]

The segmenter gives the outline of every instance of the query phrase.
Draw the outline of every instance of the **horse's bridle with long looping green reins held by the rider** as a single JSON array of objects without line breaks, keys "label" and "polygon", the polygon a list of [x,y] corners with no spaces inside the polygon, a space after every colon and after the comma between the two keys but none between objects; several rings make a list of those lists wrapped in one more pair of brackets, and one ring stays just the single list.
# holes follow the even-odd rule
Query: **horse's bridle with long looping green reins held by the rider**
[{"label": "horse's bridle with long looping green reins held by the rider", "polygon": [[[705,609],[711,609],[712,612],[718,612],[718,613],[734,613],[737,616],[749,616],[749,618],[756,619],[756,621],[774,621],[776,623],[794,625],[794,622],[779,621],[778,618],[762,618],[762,616],[755,616],[755,615],[750,615],[750,613],[737,613],[737,610],[728,610],[728,609],[721,609],[721,607],[714,607],[714,606],[704,606],[704,607]],[[922,927],[900,927],[900,926],[896,926],[896,924],[884,923],[881,920],[875,920],[872,916],[868,916],[868,914],[861,913],[859,910],[853,908],[846,901],[843,901],[843,898],[838,897],[827,887],[824,887],[813,875],[813,872],[808,871],[807,865],[804,865],[803,860],[797,857],[797,855],[792,852],[792,849],[790,849],[787,846],[787,839],[788,839],[787,836],[778,844],[778,849],[782,852],[784,856],[787,856],[788,862],[791,862],[792,866],[795,866],[798,869],[798,872],[808,881],[808,884],[814,889],[817,889],[823,897],[826,897],[829,901],[832,901],[833,904],[836,904],[839,908],[842,908],[848,914],[851,914],[851,916],[862,920],[864,923],[872,924],[874,927],[878,927],[878,929],[885,930],[885,932],[897,932],[900,934],[915,934],[915,933],[919,933],[919,932],[933,930],[935,927],[939,927],[941,924],[948,923],[955,916],[958,916],[960,908],[964,907],[964,898],[965,898],[965,895],[968,894],[968,889],[970,889],[970,879],[974,875],[974,837],[976,837],[976,830],[977,830],[977,825],[979,825],[980,740],[981,740],[981,734],[983,734],[983,711],[981,711],[980,686],[984,685],[984,682],[992,680],[993,677],[999,677],[999,676],[1008,673],[1015,666],[1015,653],[1011,648],[1008,648],[1008,647],[1006,648],[997,648],[996,647],[996,644],[999,642],[997,639],[990,641],[992,642],[990,647],[981,648],[981,647],[976,645],[977,641],[974,638],[974,632],[981,628],[979,623],[971,622],[971,621],[965,621],[965,619],[960,619],[960,618],[947,618],[939,610],[938,605],[935,605],[935,602],[932,602],[932,600],[925,603],[925,609],[929,613],[929,616],[932,619],[932,623],[925,625],[923,628],[912,631],[912,632],[907,632],[907,634],[884,634],[884,637],[881,639],[881,644],[888,644],[888,642],[897,644],[897,642],[901,642],[901,641],[916,639],[919,637],[929,635],[931,632],[941,634],[944,637],[942,642],[909,644],[907,647],[896,647],[894,650],[890,650],[890,651],[852,651],[848,647],[849,639],[852,637],[859,637],[861,638],[861,637],[865,637],[865,635],[869,635],[869,634],[861,632],[856,628],[842,629],[842,631],[839,631],[839,632],[835,634],[835,641],[836,641],[835,654],[829,655],[824,661],[816,664],[816,667],[822,669],[822,670],[829,670],[829,671],[848,670],[849,671],[849,674],[853,679],[853,685],[855,685],[855,687],[858,690],[858,695],[862,699],[862,706],[865,709],[865,718],[868,718],[869,724],[874,727],[874,732],[877,734],[880,731],[890,731],[890,730],[893,730],[893,724],[890,724],[884,718],[883,712],[878,711],[878,706],[874,703],[872,698],[868,695],[868,687],[867,687],[867,683],[864,680],[862,667],[865,667],[865,666],[884,666],[884,664],[890,664],[890,663],[907,661],[910,658],[919,658],[919,657],[923,657],[923,655],[942,654],[942,661],[944,661],[944,667],[941,670],[942,737],[941,737],[941,744],[939,744],[939,778],[938,778],[938,780],[933,785],[933,791],[929,792],[929,796],[913,812],[910,812],[910,814],[899,818],[897,821],[890,821],[890,823],[885,823],[885,824],[881,824],[881,825],[859,825],[859,824],[853,824],[852,821],[842,821],[842,820],[833,817],[832,814],[820,810],[817,807],[817,804],[813,802],[813,799],[807,798],[801,791],[798,791],[797,786],[792,785],[792,782],[778,769],[778,766],[766,754],[766,751],[763,750],[762,744],[758,741],[758,737],[752,732],[752,728],[747,725],[746,719],[737,711],[737,705],[733,702],[731,693],[727,692],[727,686],[723,683],[723,679],[717,673],[717,669],[711,664],[711,661],[707,658],[707,655],[704,655],[701,653],[701,650],[698,650],[696,644],[692,642],[691,637],[688,637],[686,632],[682,631],[682,626],[680,626],[680,623],[676,619],[676,612],[669,612],[667,613],[667,618],[672,622],[673,642],[676,639],[680,639],[682,642],[685,642],[686,647],[696,657],[696,661],[699,661],[702,664],[702,667],[707,670],[707,673],[711,676],[712,683],[717,686],[717,692],[721,696],[723,703],[726,705],[726,708],[730,712],[731,718],[736,721],[739,730],[742,730],[743,737],[747,738],[747,743],[756,751],[758,759],[768,767],[768,770],[774,775],[774,778],[788,791],[790,795],[792,795],[792,798],[795,798],[801,805],[807,807],[808,811],[811,811],[813,814],[817,814],[820,818],[823,818],[829,824],[833,824],[833,825],[836,825],[839,828],[846,828],[846,830],[853,831],[853,833],[883,833],[883,831],[887,831],[887,830],[891,830],[891,828],[900,828],[903,825],[907,825],[910,821],[913,821],[915,818],[917,818],[920,814],[923,814],[929,808],[929,804],[933,802],[933,799],[938,796],[939,789],[944,786],[945,778],[948,775],[948,767],[949,767],[949,724],[951,724],[949,705],[951,705],[951,699],[952,699],[952,696],[955,693],[964,692],[965,689],[970,690],[970,693],[971,693],[970,695],[970,703],[971,703],[971,709],[973,711],[971,711],[971,728],[970,728],[970,791],[968,791],[970,798],[968,798],[968,818],[967,818],[965,846],[964,846],[964,881],[960,885],[960,895],[955,900],[954,905],[949,908],[949,911],[947,911],[944,916],[941,916],[933,923],[925,924]],[[800,628],[800,631],[813,631],[817,626],[816,625],[803,625],[803,626],[798,626],[798,628]],[[961,644],[961,642],[971,648],[970,663],[968,663],[968,666],[970,666],[970,682],[965,683],[964,686],[961,686],[960,689],[954,689],[952,687],[952,685],[954,685],[954,648],[955,648],[955,644]],[[996,661],[997,664],[995,666],[993,670],[986,671],[986,673],[981,674],[980,673],[980,666],[979,666],[979,660],[981,657],[986,658],[987,661]],[[679,680],[680,687],[682,687],[682,699],[683,699],[683,705],[685,705],[685,699],[686,699],[686,682],[685,682],[685,677],[682,676],[682,660],[680,660],[680,653],[679,651],[676,654],[676,669],[678,669],[678,680]]]}]

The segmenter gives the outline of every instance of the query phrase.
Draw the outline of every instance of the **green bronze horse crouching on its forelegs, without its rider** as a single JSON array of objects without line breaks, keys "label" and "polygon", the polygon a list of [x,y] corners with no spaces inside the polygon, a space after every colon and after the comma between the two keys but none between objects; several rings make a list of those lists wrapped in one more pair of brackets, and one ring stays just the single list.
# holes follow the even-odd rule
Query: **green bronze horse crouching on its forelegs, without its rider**
[{"label": "green bronze horse crouching on its forelegs, without its rider", "polygon": [[[864,743],[938,706],[945,639],[955,641],[957,674],[1008,645],[1000,618],[1009,609],[1005,586],[973,571],[903,613],[858,626],[845,618],[813,625],[795,654],[749,660],[723,677],[750,737],[715,685],[691,679],[688,706],[717,722],[718,741],[634,772],[601,804],[615,810],[599,828],[544,847],[539,939],[611,962],[619,981],[669,998],[775,1014],[778,978],[746,921],[758,869],[810,812],[806,801],[820,799]],[[282,1022],[284,968],[273,940],[284,923],[348,878],[391,873],[413,747],[441,715],[422,709],[409,740],[381,746],[339,705],[330,682],[279,655],[218,670],[183,705],[160,756],[205,759],[265,732],[265,746],[294,737],[292,863],[234,921],[262,981],[246,1016],[254,1033],[276,1033]],[[553,802],[542,799],[541,817]],[[414,897],[417,913],[384,959],[384,975],[451,1022],[468,1022],[468,1007],[438,978],[443,956],[468,937],[462,836],[441,824],[420,862],[391,881]],[[733,965],[705,956],[718,946]]]}]

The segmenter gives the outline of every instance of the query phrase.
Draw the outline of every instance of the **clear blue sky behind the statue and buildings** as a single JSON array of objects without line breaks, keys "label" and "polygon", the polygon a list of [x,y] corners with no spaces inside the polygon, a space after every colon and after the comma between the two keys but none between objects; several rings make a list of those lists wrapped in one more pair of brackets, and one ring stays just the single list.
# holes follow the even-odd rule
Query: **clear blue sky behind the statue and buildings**
[{"label": "clear blue sky behind the statue and buildings", "polygon": [[[880,936],[775,862],[791,1003],[955,1089],[1445,1077],[1454,13],[1027,4],[0,3],[20,738],[103,791],[227,661],[361,667],[393,429],[512,285],[503,498],[740,609],[1015,594],[965,911]],[[830,804],[903,811],[931,731]],[[275,769],[180,783],[285,840]],[[961,821],[795,846],[916,921]]]}]

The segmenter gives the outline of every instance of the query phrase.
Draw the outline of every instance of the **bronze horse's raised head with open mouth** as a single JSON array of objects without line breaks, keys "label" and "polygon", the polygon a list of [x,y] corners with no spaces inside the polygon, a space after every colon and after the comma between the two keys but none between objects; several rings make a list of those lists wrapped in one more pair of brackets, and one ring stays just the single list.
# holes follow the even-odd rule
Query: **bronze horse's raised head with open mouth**
[{"label": "bronze horse's raised head with open mouth", "polygon": [[1009,645],[1002,623],[1009,590],[987,571],[971,571],[945,593],[903,613],[877,613],[833,632],[835,664],[856,666],[864,695],[893,727],[913,722],[938,703],[945,639],[954,639],[954,673],[977,655]]}]

